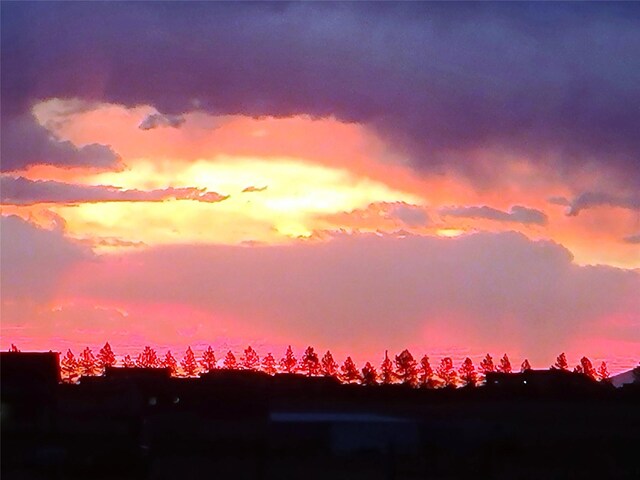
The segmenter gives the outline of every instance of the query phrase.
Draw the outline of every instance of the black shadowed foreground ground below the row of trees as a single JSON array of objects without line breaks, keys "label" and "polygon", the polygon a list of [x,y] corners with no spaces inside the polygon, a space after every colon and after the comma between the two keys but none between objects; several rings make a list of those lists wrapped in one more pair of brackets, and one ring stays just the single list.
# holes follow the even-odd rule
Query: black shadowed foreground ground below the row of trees
[{"label": "black shadowed foreground ground below the row of trees", "polygon": [[3,480],[640,479],[638,385],[531,372],[422,390],[139,369],[61,385],[6,358]]}]

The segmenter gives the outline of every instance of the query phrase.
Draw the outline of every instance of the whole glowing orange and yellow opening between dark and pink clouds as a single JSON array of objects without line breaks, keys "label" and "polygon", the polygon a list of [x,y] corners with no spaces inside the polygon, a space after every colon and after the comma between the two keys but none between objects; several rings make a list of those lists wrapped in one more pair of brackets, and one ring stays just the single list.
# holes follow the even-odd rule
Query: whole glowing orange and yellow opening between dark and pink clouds
[{"label": "whole glowing orange and yellow opening between dark and pink clouds", "polygon": [[[283,243],[315,233],[321,238],[323,230],[439,236],[518,231],[566,246],[580,264],[640,265],[637,245],[621,240],[637,231],[636,213],[603,208],[567,216],[566,207],[548,202],[589,190],[598,177],[586,175],[584,186],[572,190],[562,176],[539,170],[527,158],[477,152],[477,161],[503,169],[500,182],[478,188],[459,172],[418,172],[375,132],[335,118],[217,117],[196,111],[184,115],[180,128],[143,130],[143,119],[157,113],[150,106],[51,99],[33,113],[61,140],[109,145],[122,161],[103,172],[37,165],[21,173],[27,178],[138,190],[196,187],[229,195],[219,203],[39,204],[3,210],[45,227],[59,225],[61,217],[66,235],[98,251],[140,242]],[[254,191],[243,192],[248,187]],[[403,222],[393,213],[394,204],[423,209],[428,221]],[[502,211],[521,205],[543,212],[549,221],[536,225],[438,214],[443,206],[482,205]]]}]

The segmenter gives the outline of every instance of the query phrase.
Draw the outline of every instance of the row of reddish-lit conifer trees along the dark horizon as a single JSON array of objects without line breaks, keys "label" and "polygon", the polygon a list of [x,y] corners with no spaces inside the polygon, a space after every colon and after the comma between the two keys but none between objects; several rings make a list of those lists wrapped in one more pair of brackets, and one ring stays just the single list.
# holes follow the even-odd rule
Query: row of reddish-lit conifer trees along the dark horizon
[{"label": "row of reddish-lit conifer trees along the dark horizon", "polygon": [[[344,383],[363,385],[403,383],[427,388],[474,386],[481,382],[489,372],[512,373],[514,370],[506,353],[497,363],[494,363],[492,356],[487,354],[476,369],[469,357],[465,358],[458,368],[454,366],[451,357],[444,357],[434,368],[427,355],[416,360],[409,350],[403,350],[395,356],[394,360],[391,360],[385,352],[379,369],[376,369],[370,362],[366,362],[362,368],[358,368],[350,356],[344,360],[342,365],[339,365],[330,351],[327,351],[320,358],[313,347],[308,347],[302,358],[298,360],[291,346],[287,348],[279,361],[276,361],[271,353],[261,359],[258,353],[249,346],[240,358],[236,358],[232,351],[228,351],[222,362],[218,361],[211,347],[208,347],[200,358],[196,358],[193,350],[189,347],[182,360],[178,362],[171,351],[167,351],[162,357],[153,348],[147,346],[135,358],[125,355],[118,362],[111,346],[106,343],[97,355],[94,355],[89,347],[85,348],[78,357],[71,350],[68,350],[60,362],[62,377],[67,382],[75,382],[80,376],[100,375],[106,367],[116,365],[168,368],[172,376],[183,377],[195,377],[200,373],[216,369],[252,370],[269,375],[303,373],[307,376],[335,377]],[[558,355],[551,368],[569,370],[564,353]],[[526,370],[531,370],[531,365],[525,359],[520,365],[519,371]],[[596,369],[587,357],[582,357],[580,364],[573,371],[587,375],[594,380],[607,381],[609,379],[606,362],[602,362]]]}]

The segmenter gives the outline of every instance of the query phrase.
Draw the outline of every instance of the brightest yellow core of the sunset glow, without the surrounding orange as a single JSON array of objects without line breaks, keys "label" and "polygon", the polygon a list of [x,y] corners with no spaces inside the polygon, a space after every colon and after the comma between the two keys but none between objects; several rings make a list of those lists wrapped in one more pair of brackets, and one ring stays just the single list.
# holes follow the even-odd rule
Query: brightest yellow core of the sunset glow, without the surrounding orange
[{"label": "brightest yellow core of the sunset glow, without the surrounding orange", "polygon": [[[229,195],[218,203],[170,200],[50,208],[66,220],[71,237],[116,237],[146,245],[282,243],[311,235],[319,214],[364,208],[373,202],[421,201],[347,170],[291,158],[219,156],[211,161],[169,162],[164,167],[142,160],[130,162],[121,172],[95,174],[85,181],[124,189],[191,186]],[[243,192],[251,186],[266,188]],[[109,251],[113,246],[96,248]]]}]

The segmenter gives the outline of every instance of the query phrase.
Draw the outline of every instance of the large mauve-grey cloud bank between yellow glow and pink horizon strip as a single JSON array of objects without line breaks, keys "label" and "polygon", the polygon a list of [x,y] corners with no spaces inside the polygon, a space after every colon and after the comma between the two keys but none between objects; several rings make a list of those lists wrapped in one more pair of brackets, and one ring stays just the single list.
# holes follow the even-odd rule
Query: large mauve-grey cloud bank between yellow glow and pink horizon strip
[{"label": "large mauve-grey cloud bank between yellow glow and pink horizon strip", "polygon": [[104,304],[162,299],[253,335],[304,332],[304,342],[371,351],[428,350],[444,336],[549,359],[577,332],[640,313],[638,273],[579,267],[563,247],[519,234],[338,235],[286,247],[158,247],[114,261],[117,269],[96,264],[68,288]]}]

